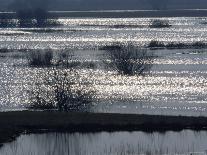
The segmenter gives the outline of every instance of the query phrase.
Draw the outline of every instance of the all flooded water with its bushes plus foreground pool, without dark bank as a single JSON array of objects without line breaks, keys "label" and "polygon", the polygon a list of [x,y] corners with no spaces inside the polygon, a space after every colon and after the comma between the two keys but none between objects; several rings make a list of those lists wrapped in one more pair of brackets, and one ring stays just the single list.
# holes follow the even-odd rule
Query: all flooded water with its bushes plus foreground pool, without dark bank
[{"label": "all flooded water with its bushes plus foreground pool, without dark bank", "polygon": [[[56,20],[0,29],[2,112],[207,116],[206,17]],[[204,155],[206,138],[191,130],[30,134],[0,154]]]}]

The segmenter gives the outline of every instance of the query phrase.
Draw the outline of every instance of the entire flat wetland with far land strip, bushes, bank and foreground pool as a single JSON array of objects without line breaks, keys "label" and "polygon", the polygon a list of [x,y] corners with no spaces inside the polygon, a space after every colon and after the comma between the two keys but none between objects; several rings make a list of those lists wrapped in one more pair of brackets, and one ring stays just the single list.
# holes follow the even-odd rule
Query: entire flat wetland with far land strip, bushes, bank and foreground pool
[{"label": "entire flat wetland with far land strip, bushes, bank and foreground pool", "polygon": [[53,11],[43,23],[2,20],[0,154],[11,155],[18,144],[17,155],[36,155],[56,149],[52,143],[57,155],[62,144],[80,155],[205,151],[206,15]]}]

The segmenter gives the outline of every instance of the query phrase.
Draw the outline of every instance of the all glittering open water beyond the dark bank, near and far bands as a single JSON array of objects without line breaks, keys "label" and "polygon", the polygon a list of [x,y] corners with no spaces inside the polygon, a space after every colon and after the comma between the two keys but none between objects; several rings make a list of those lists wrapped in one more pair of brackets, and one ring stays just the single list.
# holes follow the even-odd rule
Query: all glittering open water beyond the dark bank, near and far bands
[{"label": "all glittering open water beyond the dark bank, near and far bands", "polygon": [[[169,29],[149,29],[152,19],[59,19],[64,23],[49,28],[49,33],[37,29],[1,29],[0,47],[7,48],[93,48],[114,41],[152,39],[192,42],[206,40],[206,18],[169,18]],[[114,25],[125,25],[113,28]],[[130,27],[141,25],[143,27]],[[39,30],[39,29],[38,29]],[[62,31],[63,30],[63,31]],[[182,30],[182,31],[181,31]],[[9,34],[9,35],[8,35]],[[156,50],[158,57],[144,77],[118,76],[103,67],[103,51],[75,50],[74,58],[94,61],[96,69],[78,69],[81,79],[96,89],[99,100],[92,111],[155,114],[206,115],[207,52],[195,50]],[[9,55],[9,56],[8,56]],[[0,104],[2,109],[15,109],[28,103],[28,90],[34,81],[41,81],[46,69],[30,68],[21,52],[0,53]],[[102,67],[101,67],[102,66]],[[114,101],[114,102],[112,102]]]}]

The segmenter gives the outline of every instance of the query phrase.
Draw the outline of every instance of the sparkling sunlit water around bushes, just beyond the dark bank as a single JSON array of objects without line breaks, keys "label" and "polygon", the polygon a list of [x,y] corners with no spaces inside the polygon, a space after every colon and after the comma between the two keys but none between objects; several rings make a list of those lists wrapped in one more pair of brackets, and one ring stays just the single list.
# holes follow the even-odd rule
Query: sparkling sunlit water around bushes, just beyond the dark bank
[{"label": "sparkling sunlit water around bushes, just beyond the dark bank", "polygon": [[[190,54],[190,52],[194,54]],[[95,68],[78,68],[82,83],[90,83],[99,99],[91,111],[164,115],[206,115],[207,55],[204,49],[161,50],[146,76],[122,76],[103,67],[103,51],[75,50],[74,59],[92,61]],[[16,54],[20,54],[16,52]],[[1,109],[24,108],[28,91],[44,81],[51,68],[29,67],[24,57],[2,57]],[[20,54],[21,55],[21,54]],[[64,69],[67,71],[67,69]]]}]

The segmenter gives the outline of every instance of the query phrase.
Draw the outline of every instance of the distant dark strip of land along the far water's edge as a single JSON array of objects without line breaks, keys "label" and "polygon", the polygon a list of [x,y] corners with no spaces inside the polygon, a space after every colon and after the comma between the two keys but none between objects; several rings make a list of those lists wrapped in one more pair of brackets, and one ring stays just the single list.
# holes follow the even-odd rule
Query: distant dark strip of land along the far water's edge
[{"label": "distant dark strip of land along the far water's edge", "polygon": [[[17,18],[15,12],[4,13],[7,18]],[[131,11],[50,11],[50,18],[146,18],[146,17],[207,17],[207,10],[131,10]],[[1,17],[0,17],[1,18]]]}]

